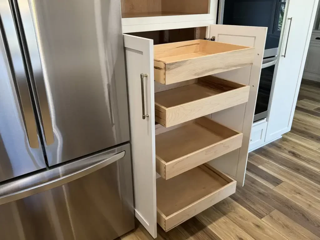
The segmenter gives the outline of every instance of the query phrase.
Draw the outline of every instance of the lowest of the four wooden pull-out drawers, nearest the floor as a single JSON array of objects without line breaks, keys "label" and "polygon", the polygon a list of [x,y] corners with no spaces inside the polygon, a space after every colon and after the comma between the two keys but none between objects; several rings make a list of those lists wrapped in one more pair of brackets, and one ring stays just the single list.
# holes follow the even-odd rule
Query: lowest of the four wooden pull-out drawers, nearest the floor
[{"label": "lowest of the four wooden pull-out drawers, nearest the floor", "polygon": [[172,179],[156,180],[157,222],[165,230],[176,227],[236,192],[236,181],[208,164]]}]

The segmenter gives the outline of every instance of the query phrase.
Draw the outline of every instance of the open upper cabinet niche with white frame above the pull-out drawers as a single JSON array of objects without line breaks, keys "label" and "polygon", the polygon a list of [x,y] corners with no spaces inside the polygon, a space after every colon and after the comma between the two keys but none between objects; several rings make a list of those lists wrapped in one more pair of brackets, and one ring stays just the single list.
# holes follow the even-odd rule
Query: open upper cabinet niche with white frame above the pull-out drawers
[{"label": "open upper cabinet niche with white frame above the pull-out drawers", "polygon": [[216,0],[121,0],[123,32],[205,27],[216,9]]}]

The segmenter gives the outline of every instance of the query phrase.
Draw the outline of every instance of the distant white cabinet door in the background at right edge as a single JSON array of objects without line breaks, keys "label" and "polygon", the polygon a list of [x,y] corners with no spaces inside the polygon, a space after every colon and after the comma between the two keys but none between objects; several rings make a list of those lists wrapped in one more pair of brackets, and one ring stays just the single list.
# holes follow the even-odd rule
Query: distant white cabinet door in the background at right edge
[{"label": "distant white cabinet door in the background at right edge", "polygon": [[310,43],[304,70],[309,73],[320,73],[320,44]]}]

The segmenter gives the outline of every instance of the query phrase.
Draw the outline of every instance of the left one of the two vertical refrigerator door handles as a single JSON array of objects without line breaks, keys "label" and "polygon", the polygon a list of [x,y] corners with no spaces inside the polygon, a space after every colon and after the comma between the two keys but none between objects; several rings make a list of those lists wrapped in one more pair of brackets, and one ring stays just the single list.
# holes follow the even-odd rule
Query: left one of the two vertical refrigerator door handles
[{"label": "left one of the two vertical refrigerator door handles", "polygon": [[[31,102],[25,65],[20,50],[17,33],[14,30],[16,22],[13,19],[10,5],[3,1],[0,5],[0,30],[4,39],[5,51],[10,62],[16,93],[19,98],[20,110],[31,148],[39,148],[36,119]],[[13,30],[12,30],[13,29]],[[7,36],[8,35],[8,36]],[[8,38],[10,41],[8,41]]]}]

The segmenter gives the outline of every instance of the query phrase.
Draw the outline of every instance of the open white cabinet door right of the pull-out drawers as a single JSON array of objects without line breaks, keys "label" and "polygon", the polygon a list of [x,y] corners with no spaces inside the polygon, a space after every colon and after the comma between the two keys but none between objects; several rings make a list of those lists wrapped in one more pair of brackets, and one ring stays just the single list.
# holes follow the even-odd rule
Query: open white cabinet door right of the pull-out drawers
[{"label": "open white cabinet door right of the pull-out drawers", "polygon": [[210,27],[210,37],[211,36],[215,36],[216,41],[218,42],[255,47],[255,57],[252,66],[216,74],[216,76],[249,85],[249,101],[211,115],[211,118],[215,121],[243,133],[241,148],[220,156],[210,162],[213,167],[235,177],[237,184],[242,186],[244,184],[250,134],[257,99],[264,46],[266,43],[267,28],[212,25]]}]

